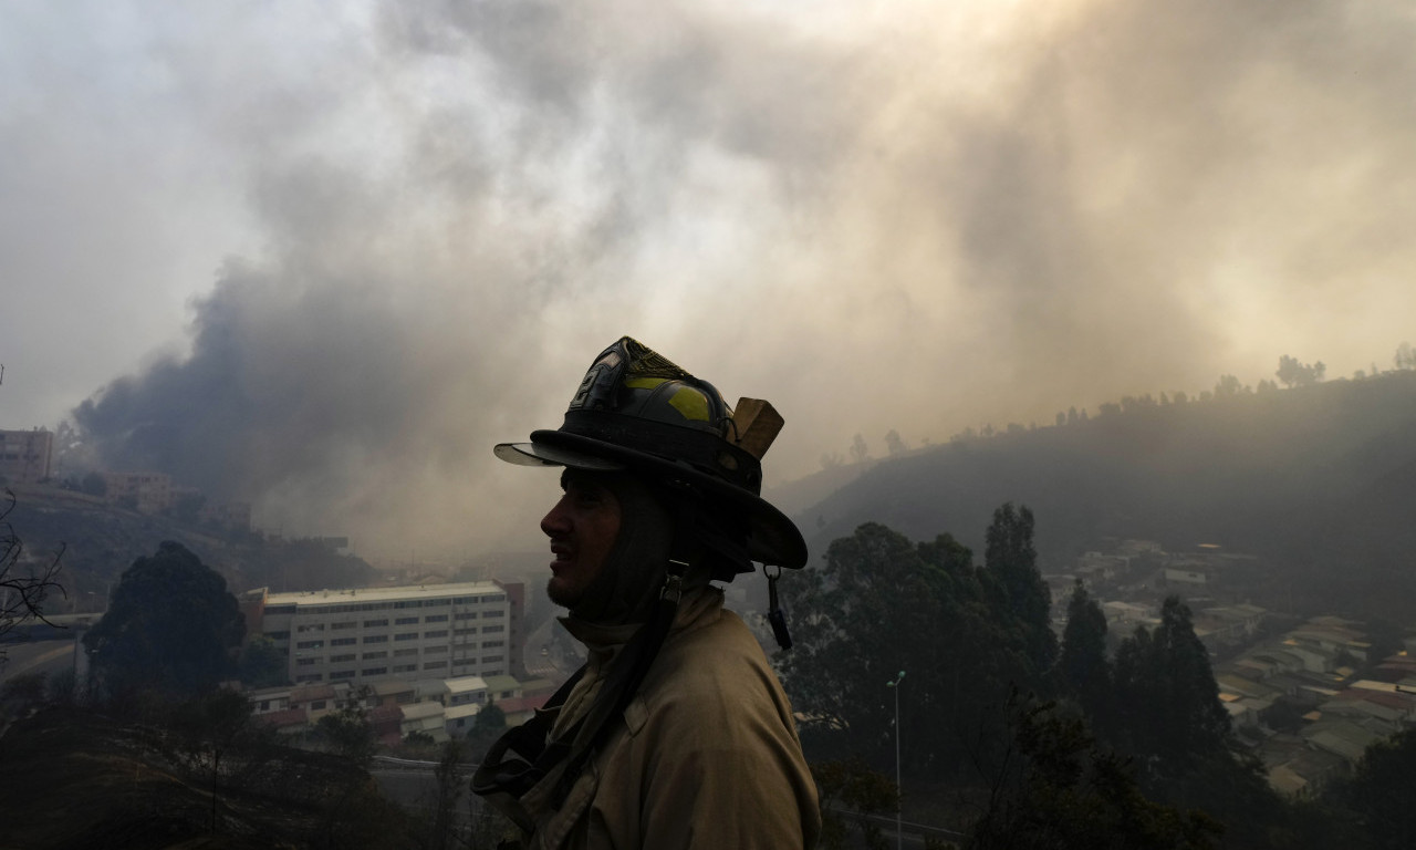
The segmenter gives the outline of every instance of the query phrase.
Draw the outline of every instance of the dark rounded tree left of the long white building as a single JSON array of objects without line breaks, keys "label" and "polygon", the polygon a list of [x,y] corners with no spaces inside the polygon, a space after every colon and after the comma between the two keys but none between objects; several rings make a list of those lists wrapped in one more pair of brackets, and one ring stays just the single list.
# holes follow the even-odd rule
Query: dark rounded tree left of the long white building
[{"label": "dark rounded tree left of the long white building", "polygon": [[84,647],[110,696],[195,696],[231,672],[244,632],[227,581],[181,544],[164,541],[123,572]]}]

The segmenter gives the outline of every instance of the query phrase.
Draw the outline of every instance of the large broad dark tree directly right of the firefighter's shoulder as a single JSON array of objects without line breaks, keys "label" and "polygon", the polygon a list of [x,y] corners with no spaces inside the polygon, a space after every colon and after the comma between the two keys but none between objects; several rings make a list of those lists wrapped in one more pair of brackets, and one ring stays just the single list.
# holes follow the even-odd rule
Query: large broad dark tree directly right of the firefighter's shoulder
[{"label": "large broad dark tree directly right of the firefighter's shoulder", "polygon": [[906,670],[905,769],[957,774],[967,738],[991,734],[1010,683],[1029,681],[1018,619],[997,605],[973,554],[949,534],[913,544],[878,523],[831,543],[826,567],[784,589],[796,646],[783,681],[818,758],[892,761],[885,683]]}]

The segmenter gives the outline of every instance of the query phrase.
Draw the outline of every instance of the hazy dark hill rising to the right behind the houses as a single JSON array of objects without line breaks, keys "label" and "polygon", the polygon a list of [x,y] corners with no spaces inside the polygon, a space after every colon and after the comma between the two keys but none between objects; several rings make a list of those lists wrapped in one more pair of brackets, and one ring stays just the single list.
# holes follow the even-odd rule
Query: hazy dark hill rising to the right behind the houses
[{"label": "hazy dark hill rising to the right behind the houses", "polygon": [[813,557],[868,520],[916,540],[949,531],[981,555],[993,510],[1015,502],[1037,514],[1045,571],[1107,536],[1172,551],[1219,544],[1308,570],[1412,565],[1416,371],[1129,401],[879,462],[797,517]]}]

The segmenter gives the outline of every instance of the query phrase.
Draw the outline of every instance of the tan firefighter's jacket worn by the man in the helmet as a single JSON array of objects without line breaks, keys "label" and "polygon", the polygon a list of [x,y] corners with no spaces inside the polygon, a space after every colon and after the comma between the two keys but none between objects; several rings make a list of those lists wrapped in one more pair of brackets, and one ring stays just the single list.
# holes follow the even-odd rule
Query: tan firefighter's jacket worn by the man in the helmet
[{"label": "tan firefighter's jacket worn by the man in the helmet", "polygon": [[[558,710],[554,734],[589,708],[630,636],[565,622],[590,647],[590,664]],[[716,588],[684,598],[624,722],[555,810],[559,775],[561,766],[520,800],[537,824],[528,847],[810,849],[821,829],[792,706]]]}]

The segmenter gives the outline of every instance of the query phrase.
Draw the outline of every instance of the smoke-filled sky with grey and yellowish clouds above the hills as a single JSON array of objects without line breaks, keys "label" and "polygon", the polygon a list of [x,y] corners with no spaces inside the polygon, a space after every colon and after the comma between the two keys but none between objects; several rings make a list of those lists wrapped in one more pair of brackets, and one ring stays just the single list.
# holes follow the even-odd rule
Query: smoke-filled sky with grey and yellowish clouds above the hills
[{"label": "smoke-filled sky with grey and yellowish clouds above the hills", "polygon": [[364,551],[535,540],[629,333],[865,435],[1416,341],[1409,0],[0,6],[0,428]]}]

